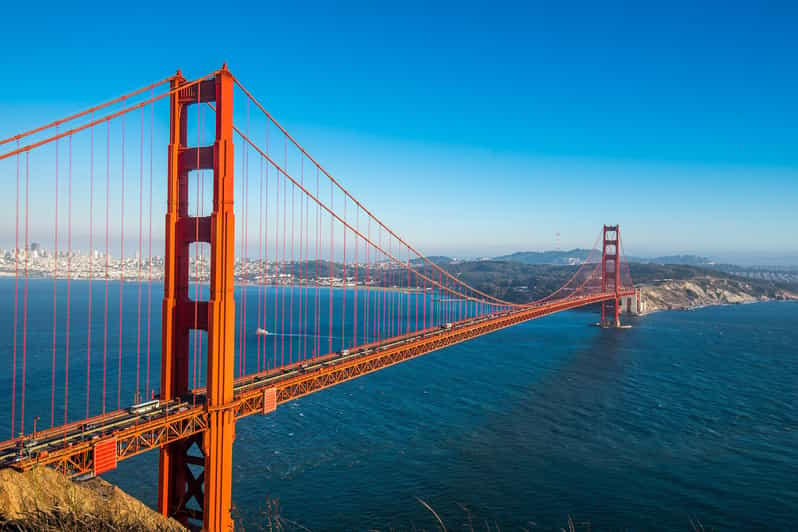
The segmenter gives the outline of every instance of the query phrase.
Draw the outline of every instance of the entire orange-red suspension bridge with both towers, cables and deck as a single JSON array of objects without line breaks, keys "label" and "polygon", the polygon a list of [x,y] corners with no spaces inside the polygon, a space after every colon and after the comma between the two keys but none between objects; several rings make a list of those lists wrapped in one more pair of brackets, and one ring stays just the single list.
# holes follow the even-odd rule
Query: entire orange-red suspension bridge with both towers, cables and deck
[{"label": "entire orange-red suspension bridge with both towers, cables and deck", "polygon": [[[206,530],[232,528],[239,419],[569,309],[598,304],[601,324],[618,326],[622,298],[636,295],[617,225],[542,299],[468,285],[369,211],[224,66],[193,81],[178,72],[0,149],[4,225],[15,227],[0,467],[92,476],[157,449],[159,511]],[[30,300],[41,263],[45,316]],[[41,355],[48,334],[48,378],[32,381],[32,345]],[[43,408],[31,387],[49,391],[49,419],[31,416]]]}]

